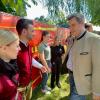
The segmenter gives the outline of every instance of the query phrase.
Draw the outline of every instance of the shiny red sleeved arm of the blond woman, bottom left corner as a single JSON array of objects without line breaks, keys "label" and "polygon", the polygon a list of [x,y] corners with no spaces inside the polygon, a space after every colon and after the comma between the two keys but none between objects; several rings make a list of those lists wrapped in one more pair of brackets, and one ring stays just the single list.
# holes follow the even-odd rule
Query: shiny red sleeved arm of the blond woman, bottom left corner
[{"label": "shiny red sleeved arm of the blond woman, bottom left corner", "polygon": [[14,100],[16,94],[16,85],[6,75],[0,76],[0,100]]}]

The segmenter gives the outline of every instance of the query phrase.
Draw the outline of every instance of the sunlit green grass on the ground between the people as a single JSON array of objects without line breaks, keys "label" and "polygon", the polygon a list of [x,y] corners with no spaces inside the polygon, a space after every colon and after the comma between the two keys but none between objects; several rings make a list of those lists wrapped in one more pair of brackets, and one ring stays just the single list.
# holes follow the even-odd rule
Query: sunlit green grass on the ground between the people
[{"label": "sunlit green grass on the ground between the people", "polygon": [[[41,92],[41,85],[39,85],[32,94],[31,100],[69,100],[68,95],[70,93],[70,87],[68,84],[68,75],[62,75],[60,78],[61,88],[55,87],[51,94],[43,94]],[[50,77],[48,80],[48,86],[50,86]],[[90,96],[87,96],[86,100],[92,100]]]}]

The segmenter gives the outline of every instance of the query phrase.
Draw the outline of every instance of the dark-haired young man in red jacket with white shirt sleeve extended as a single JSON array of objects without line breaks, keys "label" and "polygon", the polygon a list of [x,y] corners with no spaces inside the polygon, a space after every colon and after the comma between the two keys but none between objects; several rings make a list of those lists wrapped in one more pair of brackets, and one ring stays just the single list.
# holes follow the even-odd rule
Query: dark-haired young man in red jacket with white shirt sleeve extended
[{"label": "dark-haired young man in red jacket with white shirt sleeve extended", "polygon": [[45,67],[32,58],[31,47],[28,45],[29,40],[33,38],[33,22],[29,19],[19,19],[16,24],[16,30],[20,38],[20,48],[17,63],[19,67],[19,84],[22,87],[28,86],[31,81],[31,68],[35,66],[45,72]]}]

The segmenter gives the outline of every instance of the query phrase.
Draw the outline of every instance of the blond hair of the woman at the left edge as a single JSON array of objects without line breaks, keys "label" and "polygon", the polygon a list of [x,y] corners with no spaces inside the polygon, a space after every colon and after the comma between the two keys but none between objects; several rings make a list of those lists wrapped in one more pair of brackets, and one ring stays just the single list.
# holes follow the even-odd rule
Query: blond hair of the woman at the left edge
[{"label": "blond hair of the woman at the left edge", "polygon": [[8,30],[0,30],[0,46],[8,45],[19,39],[16,33]]}]

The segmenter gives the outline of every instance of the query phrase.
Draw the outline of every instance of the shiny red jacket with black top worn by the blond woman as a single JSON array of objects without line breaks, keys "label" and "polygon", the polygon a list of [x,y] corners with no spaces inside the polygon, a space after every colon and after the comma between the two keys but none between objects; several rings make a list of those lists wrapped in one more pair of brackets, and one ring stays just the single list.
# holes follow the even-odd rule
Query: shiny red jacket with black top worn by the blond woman
[{"label": "shiny red jacket with black top worn by the blond woman", "polygon": [[[0,59],[0,100],[15,100],[19,76],[17,71],[15,66]],[[17,100],[22,100],[19,93]]]}]

